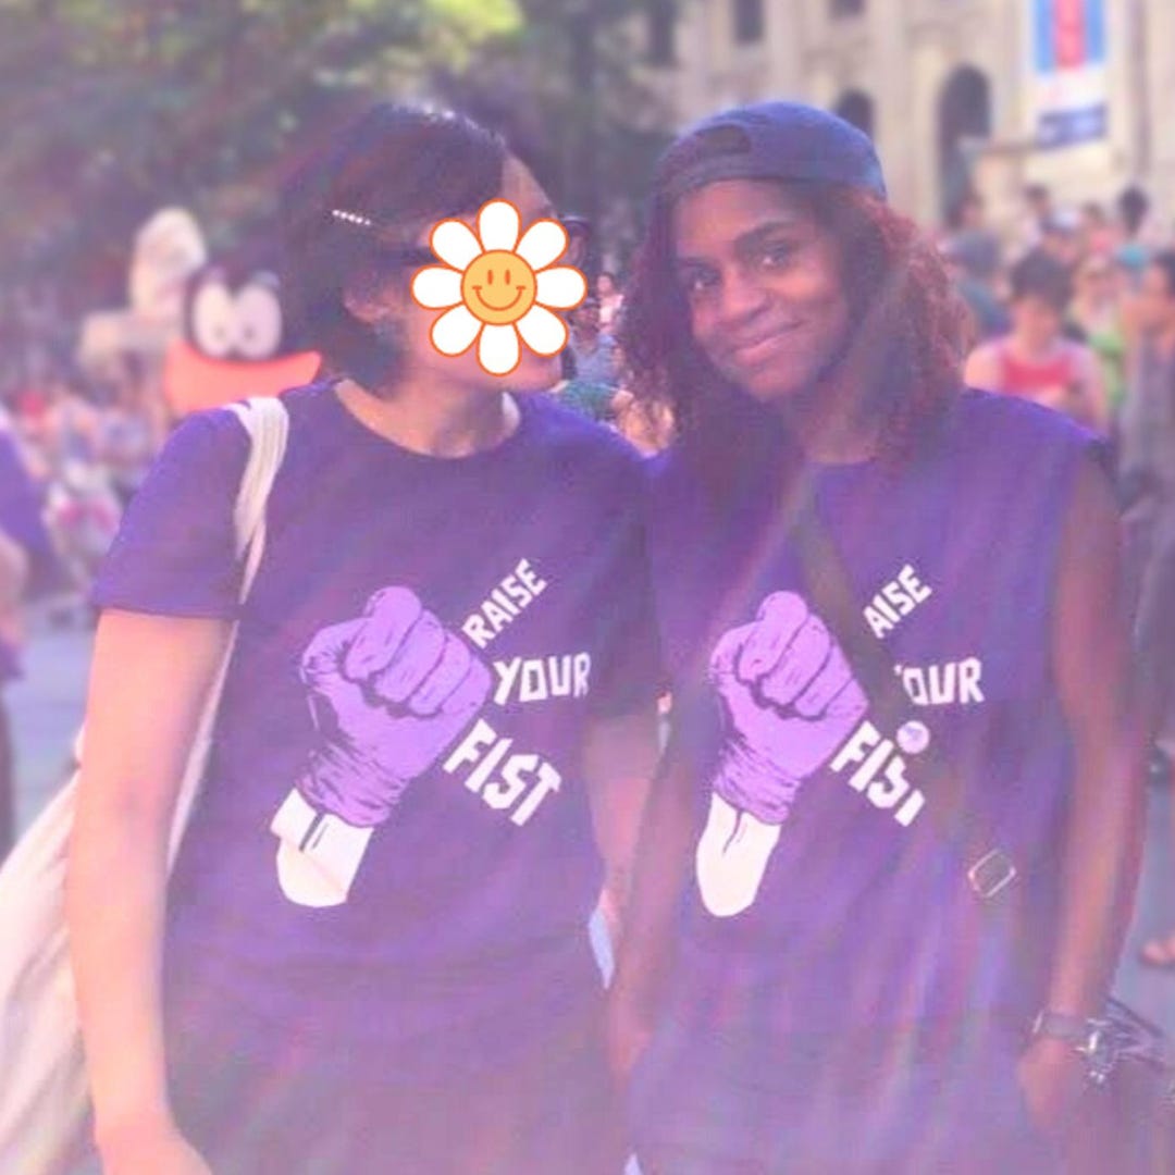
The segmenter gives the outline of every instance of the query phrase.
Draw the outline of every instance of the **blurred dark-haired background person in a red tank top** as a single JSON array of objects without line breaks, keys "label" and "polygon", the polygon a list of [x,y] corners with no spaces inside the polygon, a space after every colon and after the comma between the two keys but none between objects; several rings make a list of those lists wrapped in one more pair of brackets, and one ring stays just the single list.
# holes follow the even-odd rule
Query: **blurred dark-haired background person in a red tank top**
[{"label": "blurred dark-haired background person in a red tank top", "polygon": [[1041,251],[1012,267],[1012,330],[983,343],[967,360],[972,388],[1035,401],[1106,432],[1109,414],[1097,357],[1065,337],[1069,277]]}]

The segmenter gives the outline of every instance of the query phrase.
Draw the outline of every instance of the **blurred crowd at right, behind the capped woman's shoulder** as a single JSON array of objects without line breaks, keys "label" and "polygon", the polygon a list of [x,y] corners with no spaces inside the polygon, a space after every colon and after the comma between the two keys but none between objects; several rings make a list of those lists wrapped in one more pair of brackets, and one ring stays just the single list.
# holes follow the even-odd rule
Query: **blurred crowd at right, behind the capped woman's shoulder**
[{"label": "blurred crowd at right, behind the capped woman's shoulder", "polygon": [[[971,310],[969,384],[1023,396],[1102,434],[1123,516],[1140,674],[1175,737],[1175,231],[1137,187],[1107,208],[1025,192],[999,235],[965,196],[939,239]],[[1175,940],[1170,962],[1175,965]]]}]

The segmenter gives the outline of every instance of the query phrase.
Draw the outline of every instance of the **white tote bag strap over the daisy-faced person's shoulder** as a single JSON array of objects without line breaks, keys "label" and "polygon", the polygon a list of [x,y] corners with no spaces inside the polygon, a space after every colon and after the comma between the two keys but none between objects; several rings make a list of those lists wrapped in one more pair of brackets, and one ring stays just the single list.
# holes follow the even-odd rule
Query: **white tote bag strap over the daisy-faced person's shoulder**
[{"label": "white tote bag strap over the daisy-faced person's shoulder", "polygon": [[[257,397],[240,404],[229,405],[236,418],[249,434],[249,458],[241,477],[241,486],[236,496],[233,512],[236,532],[237,558],[244,559],[241,575],[241,603],[249,597],[253,582],[261,566],[261,557],[266,548],[266,505],[269,491],[273,489],[277,470],[286,456],[286,442],[289,436],[289,416],[282,402],[274,397]],[[213,726],[220,709],[224,679],[228,676],[229,662],[236,644],[236,625],[224,649],[224,659],[213,683],[212,691],[204,701],[204,709],[192,743],[192,753],[180,783],[180,792],[175,803],[175,818],[172,821],[172,839],[168,847],[168,865],[175,861],[183,832],[188,826],[192,808],[200,791],[204,767],[208,763],[208,751],[212,746]]]}]

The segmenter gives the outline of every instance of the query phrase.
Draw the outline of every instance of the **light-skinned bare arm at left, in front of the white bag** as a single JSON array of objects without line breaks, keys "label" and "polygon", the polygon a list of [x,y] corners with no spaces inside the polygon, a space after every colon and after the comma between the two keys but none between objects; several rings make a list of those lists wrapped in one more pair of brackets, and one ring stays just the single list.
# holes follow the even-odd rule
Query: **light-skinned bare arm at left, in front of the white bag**
[{"label": "light-skinned bare arm at left, in front of the white bag", "polygon": [[172,817],[229,633],[122,611],[98,626],[66,912],[107,1175],[208,1171],[168,1102],[162,939]]}]

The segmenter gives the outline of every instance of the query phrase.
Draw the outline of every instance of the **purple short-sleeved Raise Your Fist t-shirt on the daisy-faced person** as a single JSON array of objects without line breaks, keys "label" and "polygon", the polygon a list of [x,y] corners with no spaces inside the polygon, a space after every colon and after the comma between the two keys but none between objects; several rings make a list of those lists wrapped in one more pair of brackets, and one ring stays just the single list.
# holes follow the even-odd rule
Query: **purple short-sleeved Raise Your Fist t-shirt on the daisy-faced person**
[{"label": "purple short-sleeved Raise Your Fist t-shirt on the daisy-faced person", "polygon": [[169,1003],[187,1030],[228,1009],[488,1063],[598,992],[582,740],[659,685],[639,458],[546,397],[459,459],[381,438],[327,385],[283,403],[244,607],[248,443],[226,410],[172,437],[94,593],[240,618],[172,885]]}]

